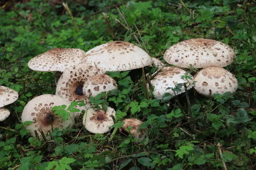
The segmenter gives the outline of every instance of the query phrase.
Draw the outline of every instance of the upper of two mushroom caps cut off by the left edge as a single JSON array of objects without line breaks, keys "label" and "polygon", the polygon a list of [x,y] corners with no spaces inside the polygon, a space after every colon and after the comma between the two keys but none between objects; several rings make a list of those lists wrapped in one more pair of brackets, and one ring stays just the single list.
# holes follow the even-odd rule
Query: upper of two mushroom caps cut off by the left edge
[{"label": "upper of two mushroom caps cut off by the left edge", "polygon": [[0,85],[0,108],[15,102],[18,97],[17,91]]}]

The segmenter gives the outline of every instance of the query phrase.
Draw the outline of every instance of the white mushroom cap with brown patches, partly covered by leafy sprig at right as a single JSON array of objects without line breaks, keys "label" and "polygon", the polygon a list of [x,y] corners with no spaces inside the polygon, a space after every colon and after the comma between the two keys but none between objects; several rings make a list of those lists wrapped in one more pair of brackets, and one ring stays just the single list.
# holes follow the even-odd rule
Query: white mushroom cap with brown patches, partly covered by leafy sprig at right
[{"label": "white mushroom cap with brown patches, partly covered by leafy sprig at right", "polygon": [[[177,68],[177,67],[165,67],[162,71],[157,74],[153,79],[151,79],[151,84],[154,86],[153,96],[156,99],[162,99],[163,94],[169,93],[171,95],[178,95],[185,92],[184,86],[182,85],[181,91],[172,91],[172,89],[166,88],[175,88],[175,85],[188,82],[187,89],[192,88],[193,80],[182,79],[181,76],[185,75],[186,71]],[[192,77],[192,76],[191,76]],[[192,78],[193,79],[193,78]]]}]

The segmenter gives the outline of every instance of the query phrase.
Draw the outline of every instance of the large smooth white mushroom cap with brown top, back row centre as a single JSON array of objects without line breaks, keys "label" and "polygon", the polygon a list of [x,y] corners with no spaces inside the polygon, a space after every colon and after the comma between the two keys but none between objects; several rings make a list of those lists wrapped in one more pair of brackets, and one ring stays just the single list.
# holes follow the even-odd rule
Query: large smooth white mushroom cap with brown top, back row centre
[{"label": "large smooth white mushroom cap with brown top, back row centre", "polygon": [[151,65],[151,57],[129,42],[114,41],[86,52],[84,61],[92,62],[103,71],[127,71]]}]

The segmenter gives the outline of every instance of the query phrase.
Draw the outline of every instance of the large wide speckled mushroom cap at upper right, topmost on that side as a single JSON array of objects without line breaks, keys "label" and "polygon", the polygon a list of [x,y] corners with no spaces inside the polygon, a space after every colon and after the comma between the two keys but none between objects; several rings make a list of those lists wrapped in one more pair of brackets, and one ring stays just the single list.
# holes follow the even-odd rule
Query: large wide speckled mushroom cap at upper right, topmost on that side
[{"label": "large wide speckled mushroom cap at upper right, topmost on that side", "polygon": [[163,58],[172,65],[188,68],[225,67],[229,65],[236,54],[232,48],[223,42],[196,38],[178,42],[166,50]]}]

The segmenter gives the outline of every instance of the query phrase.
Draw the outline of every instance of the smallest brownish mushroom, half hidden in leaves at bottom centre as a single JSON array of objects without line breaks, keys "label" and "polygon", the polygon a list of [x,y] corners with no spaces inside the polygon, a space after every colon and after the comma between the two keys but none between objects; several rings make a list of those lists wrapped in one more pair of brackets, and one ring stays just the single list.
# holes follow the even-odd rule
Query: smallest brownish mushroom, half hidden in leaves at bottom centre
[{"label": "smallest brownish mushroom, half hidden in leaves at bottom centre", "polygon": [[[138,119],[124,119],[123,122],[125,122],[125,124],[120,127],[121,131],[124,130],[140,140],[145,139],[147,130],[139,129],[140,125],[143,123],[142,121]],[[129,126],[132,127],[130,130],[127,129]]]}]

